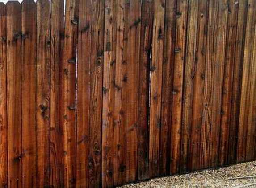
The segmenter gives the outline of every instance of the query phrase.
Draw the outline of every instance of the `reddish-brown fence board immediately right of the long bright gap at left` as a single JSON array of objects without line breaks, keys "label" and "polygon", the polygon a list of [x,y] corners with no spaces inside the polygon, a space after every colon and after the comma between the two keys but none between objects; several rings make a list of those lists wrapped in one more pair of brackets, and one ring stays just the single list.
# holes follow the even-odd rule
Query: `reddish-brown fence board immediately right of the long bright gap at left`
[{"label": "reddish-brown fence board immediately right of the long bright gap at left", "polygon": [[[75,2],[75,1],[74,1]],[[76,187],[89,185],[91,2],[80,0],[77,67]],[[72,161],[71,161],[72,162]]]}]

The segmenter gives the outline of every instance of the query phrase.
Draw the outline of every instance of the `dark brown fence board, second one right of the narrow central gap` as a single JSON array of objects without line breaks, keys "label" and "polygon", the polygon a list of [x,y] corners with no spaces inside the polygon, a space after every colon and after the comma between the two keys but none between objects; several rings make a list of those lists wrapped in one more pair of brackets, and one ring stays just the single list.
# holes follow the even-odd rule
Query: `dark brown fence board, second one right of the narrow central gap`
[{"label": "dark brown fence board, second one right of the narrow central gap", "polygon": [[167,175],[170,172],[170,131],[172,120],[172,83],[176,29],[176,0],[166,0],[164,19],[164,57],[159,158],[160,175]]}]

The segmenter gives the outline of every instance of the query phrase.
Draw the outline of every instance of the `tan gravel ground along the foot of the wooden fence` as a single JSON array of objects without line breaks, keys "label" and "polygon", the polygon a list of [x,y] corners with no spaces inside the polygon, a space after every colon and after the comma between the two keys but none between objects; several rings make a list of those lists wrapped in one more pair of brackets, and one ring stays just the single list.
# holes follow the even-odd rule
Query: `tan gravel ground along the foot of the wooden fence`
[{"label": "tan gravel ground along the foot of the wooden fence", "polygon": [[[251,176],[251,177],[250,177]],[[253,177],[252,177],[253,176]],[[232,179],[240,177],[241,179]],[[254,185],[249,185],[253,184]],[[256,161],[128,184],[119,188],[256,188]]]}]

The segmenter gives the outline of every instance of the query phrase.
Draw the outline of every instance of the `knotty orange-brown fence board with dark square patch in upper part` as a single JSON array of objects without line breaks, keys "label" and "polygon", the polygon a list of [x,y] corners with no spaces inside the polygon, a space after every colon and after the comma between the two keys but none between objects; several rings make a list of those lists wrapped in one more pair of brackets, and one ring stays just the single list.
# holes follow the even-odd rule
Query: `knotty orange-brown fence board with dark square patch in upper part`
[{"label": "knotty orange-brown fence board with dark square patch in upper part", "polygon": [[115,90],[120,86],[115,83],[116,37],[117,37],[117,2],[105,1],[104,34],[104,72],[103,72],[103,112],[102,112],[102,186],[114,185],[114,129],[115,129]]}]

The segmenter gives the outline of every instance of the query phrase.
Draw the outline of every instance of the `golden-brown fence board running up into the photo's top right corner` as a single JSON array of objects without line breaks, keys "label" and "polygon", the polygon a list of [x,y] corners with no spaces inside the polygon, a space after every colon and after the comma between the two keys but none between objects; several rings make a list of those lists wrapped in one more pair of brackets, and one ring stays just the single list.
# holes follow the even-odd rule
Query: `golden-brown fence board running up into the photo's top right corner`
[{"label": "golden-brown fence board running up into the photo's top right corner", "polygon": [[247,148],[247,135],[252,133],[251,126],[248,124],[249,113],[249,98],[250,98],[250,81],[252,70],[252,53],[253,53],[253,40],[255,30],[255,15],[256,15],[256,2],[248,0],[248,13],[247,13],[247,25],[245,33],[245,50],[243,61],[243,78],[242,78],[242,93],[240,103],[240,116],[239,116],[239,135],[238,135],[238,151],[237,162],[246,161],[247,153],[251,152],[252,148]]}]

